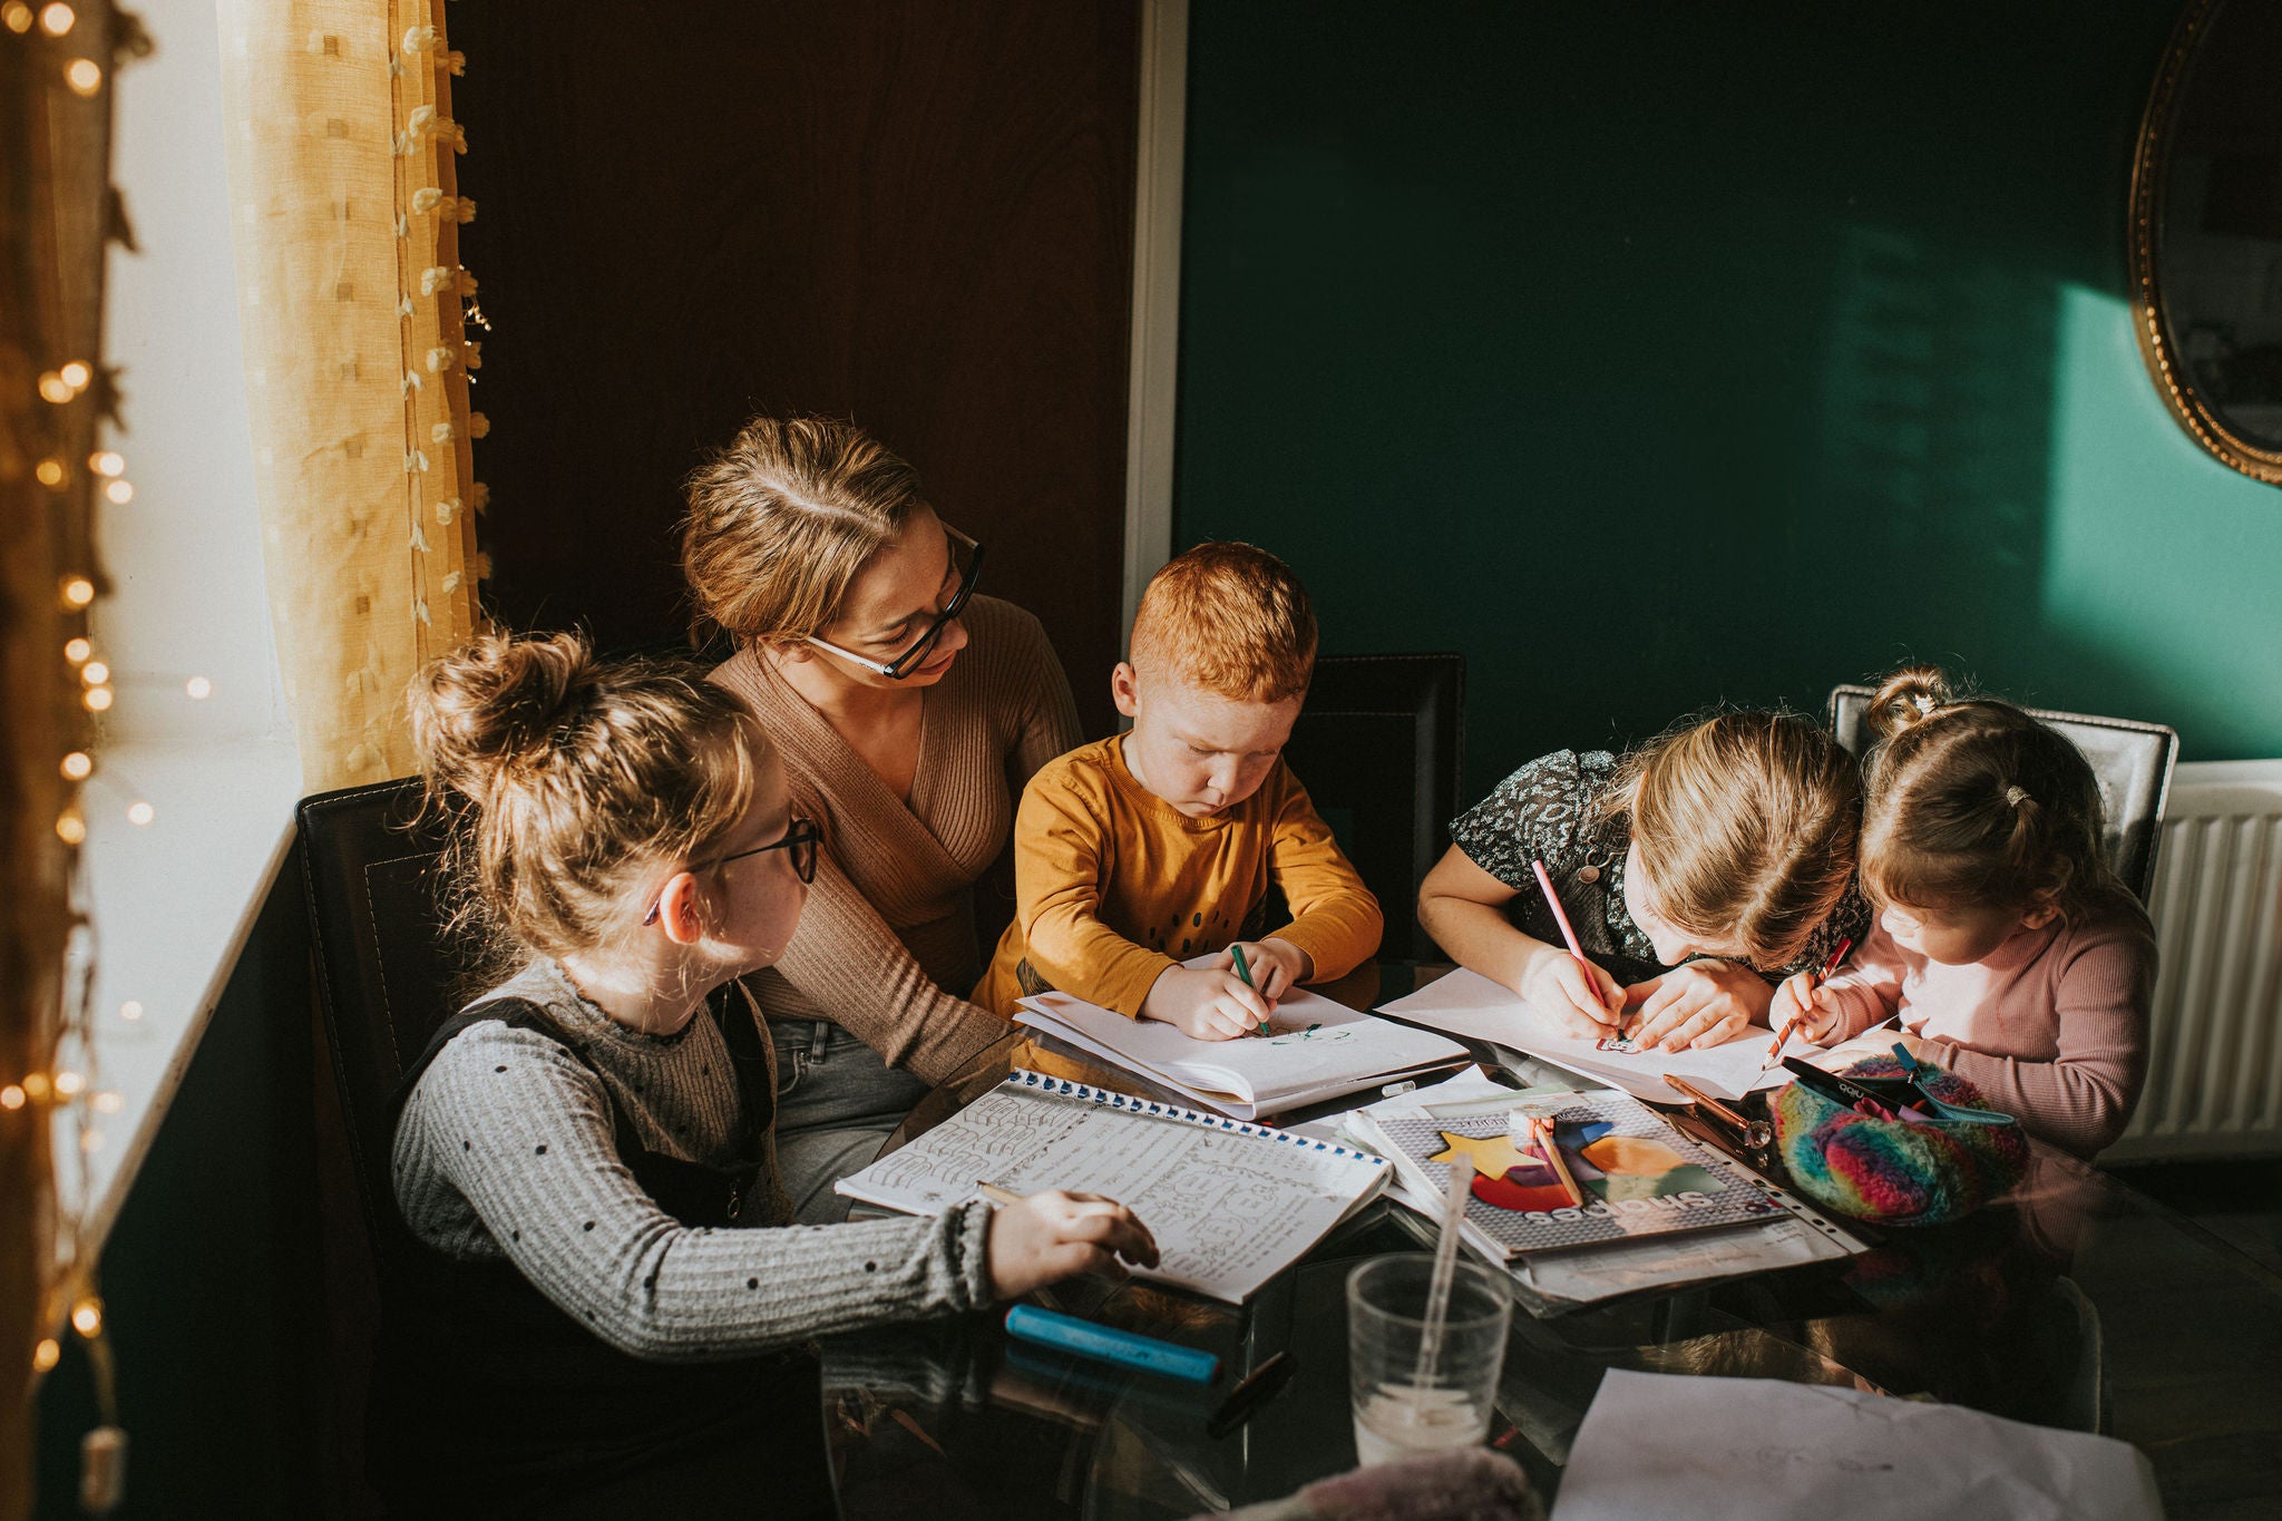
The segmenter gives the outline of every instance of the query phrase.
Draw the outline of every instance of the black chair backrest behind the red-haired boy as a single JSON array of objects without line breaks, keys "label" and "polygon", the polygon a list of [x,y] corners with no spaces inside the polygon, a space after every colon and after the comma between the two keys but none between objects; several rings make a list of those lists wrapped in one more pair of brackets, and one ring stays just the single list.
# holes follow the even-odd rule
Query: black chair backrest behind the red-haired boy
[{"label": "black chair backrest behind the red-haired boy", "polygon": [[1387,917],[1381,955],[1433,960],[1417,892],[1449,844],[1465,757],[1465,657],[1326,654],[1285,757]]}]

